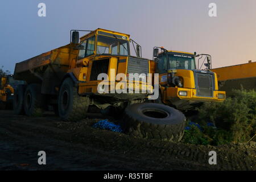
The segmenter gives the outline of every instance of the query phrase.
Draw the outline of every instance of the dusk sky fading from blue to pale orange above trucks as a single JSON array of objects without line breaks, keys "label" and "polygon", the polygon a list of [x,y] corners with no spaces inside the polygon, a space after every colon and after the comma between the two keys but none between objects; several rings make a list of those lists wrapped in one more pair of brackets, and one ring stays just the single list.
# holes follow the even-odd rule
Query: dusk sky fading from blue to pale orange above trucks
[{"label": "dusk sky fading from blue to pale orange above trucks", "polygon": [[[41,2],[46,17],[38,16]],[[208,15],[209,3],[216,3],[217,17]],[[163,46],[208,53],[213,68],[256,60],[255,0],[9,0],[0,7],[0,67],[11,72],[19,61],[68,44],[71,29],[130,34],[148,59]]]}]

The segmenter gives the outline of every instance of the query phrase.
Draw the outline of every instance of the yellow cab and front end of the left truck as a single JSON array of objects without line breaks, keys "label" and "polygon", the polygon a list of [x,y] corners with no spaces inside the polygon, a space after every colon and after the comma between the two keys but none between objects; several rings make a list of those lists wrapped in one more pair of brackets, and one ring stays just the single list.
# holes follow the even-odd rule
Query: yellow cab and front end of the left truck
[{"label": "yellow cab and front end of the left truck", "polygon": [[[133,44],[136,56],[131,56],[130,43]],[[135,48],[135,46],[136,48]],[[150,90],[152,86],[147,81],[129,81],[129,74],[138,73],[147,75],[150,73],[149,60],[141,57],[140,46],[130,39],[130,35],[122,34],[98,28],[89,34],[80,38],[80,50],[77,56],[76,66],[69,72],[80,70],[79,93],[92,93],[97,96],[108,96],[108,93],[98,93],[98,84],[102,80],[98,80],[100,73],[105,73],[109,78],[109,93],[114,93],[114,88],[120,80],[115,80],[115,76],[119,73],[125,75],[127,87],[133,84],[133,88],[138,87],[139,90]],[[112,80],[110,80],[112,79]],[[118,79],[118,78],[117,78]],[[122,80],[122,79],[121,79]],[[124,81],[124,80],[123,80]],[[128,90],[127,90],[128,91]],[[111,95],[111,100],[126,100],[129,94],[118,94],[115,97]],[[145,94],[133,94],[133,99],[145,98]],[[99,98],[99,97],[97,97]]]}]

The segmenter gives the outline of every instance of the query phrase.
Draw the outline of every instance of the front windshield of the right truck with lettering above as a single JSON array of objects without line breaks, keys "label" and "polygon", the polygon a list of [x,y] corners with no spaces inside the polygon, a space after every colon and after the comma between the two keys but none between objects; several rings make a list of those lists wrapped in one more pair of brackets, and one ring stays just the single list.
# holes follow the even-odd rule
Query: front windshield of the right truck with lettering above
[{"label": "front windshield of the right truck with lettering above", "polygon": [[168,54],[169,69],[196,69],[195,57],[190,55]]}]

